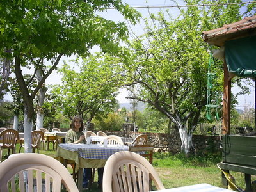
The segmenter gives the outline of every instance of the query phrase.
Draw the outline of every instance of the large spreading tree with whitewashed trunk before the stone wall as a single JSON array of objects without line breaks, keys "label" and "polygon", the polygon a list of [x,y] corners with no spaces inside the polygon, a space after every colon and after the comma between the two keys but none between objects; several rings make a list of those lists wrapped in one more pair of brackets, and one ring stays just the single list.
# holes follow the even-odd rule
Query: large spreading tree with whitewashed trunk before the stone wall
[{"label": "large spreading tree with whitewashed trunk before the stone wall", "polygon": [[[184,4],[211,3],[214,1],[184,1]],[[188,155],[193,149],[193,131],[206,104],[207,49],[210,47],[203,42],[202,31],[236,22],[241,17],[237,4],[179,9],[176,19],[170,12],[151,14],[145,34],[131,42],[131,52],[124,63],[127,84],[139,87],[136,99],[147,102],[175,124],[182,143],[181,151]],[[217,79],[214,92],[221,95],[222,63],[216,61],[212,71]]]}]

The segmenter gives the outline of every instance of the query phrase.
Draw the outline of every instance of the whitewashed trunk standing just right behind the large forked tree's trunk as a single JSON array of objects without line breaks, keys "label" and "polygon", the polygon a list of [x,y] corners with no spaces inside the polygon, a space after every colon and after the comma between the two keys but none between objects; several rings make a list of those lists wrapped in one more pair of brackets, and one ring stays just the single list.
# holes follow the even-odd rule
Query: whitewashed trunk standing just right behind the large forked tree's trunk
[{"label": "whitewashed trunk standing just right behind the large forked tree's trunk", "polygon": [[[38,82],[42,80],[42,73],[40,70],[36,71],[36,79]],[[36,106],[36,130],[43,128],[43,122],[44,122],[44,111],[42,109],[42,106],[44,104],[44,99],[45,99],[45,93],[47,91],[47,88],[45,86],[42,86],[42,88],[39,89],[38,92],[38,104]]]}]

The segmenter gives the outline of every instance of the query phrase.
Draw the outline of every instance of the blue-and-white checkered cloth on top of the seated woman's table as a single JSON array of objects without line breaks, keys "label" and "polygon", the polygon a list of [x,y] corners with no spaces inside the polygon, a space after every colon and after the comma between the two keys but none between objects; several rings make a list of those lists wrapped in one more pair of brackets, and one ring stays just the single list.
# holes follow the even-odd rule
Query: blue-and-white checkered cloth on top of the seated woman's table
[{"label": "blue-and-white checkered cloth on top of the seated woman's table", "polygon": [[109,156],[122,150],[129,150],[125,145],[86,145],[86,144],[60,144],[61,148],[70,151],[77,151],[79,157],[84,159],[108,159]]}]

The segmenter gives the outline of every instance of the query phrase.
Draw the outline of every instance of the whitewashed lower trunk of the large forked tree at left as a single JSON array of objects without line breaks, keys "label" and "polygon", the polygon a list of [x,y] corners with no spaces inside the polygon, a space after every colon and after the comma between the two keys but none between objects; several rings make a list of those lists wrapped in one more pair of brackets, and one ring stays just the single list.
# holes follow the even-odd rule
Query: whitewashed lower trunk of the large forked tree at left
[{"label": "whitewashed lower trunk of the large forked tree at left", "polygon": [[33,127],[33,120],[27,116],[27,106],[24,106],[24,140],[25,140],[25,153],[32,152],[31,145],[31,131]]}]

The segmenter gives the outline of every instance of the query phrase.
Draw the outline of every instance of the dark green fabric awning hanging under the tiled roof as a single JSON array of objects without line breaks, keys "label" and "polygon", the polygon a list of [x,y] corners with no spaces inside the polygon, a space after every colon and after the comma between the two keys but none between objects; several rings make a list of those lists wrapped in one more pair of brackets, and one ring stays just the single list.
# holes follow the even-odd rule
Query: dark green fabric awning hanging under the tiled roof
[{"label": "dark green fabric awning hanging under the tiled roof", "polygon": [[256,77],[256,36],[225,42],[228,72],[241,77]]}]

